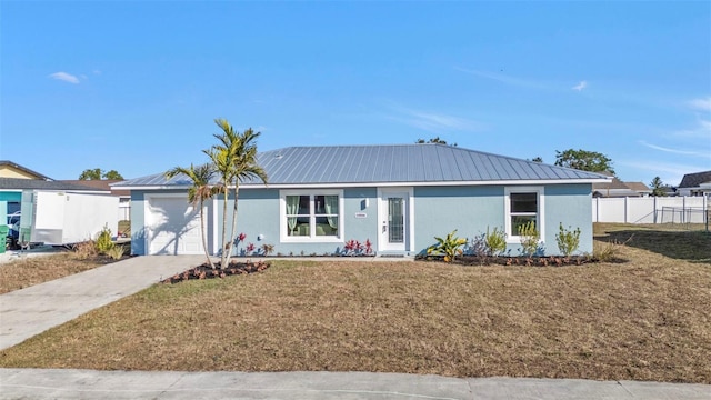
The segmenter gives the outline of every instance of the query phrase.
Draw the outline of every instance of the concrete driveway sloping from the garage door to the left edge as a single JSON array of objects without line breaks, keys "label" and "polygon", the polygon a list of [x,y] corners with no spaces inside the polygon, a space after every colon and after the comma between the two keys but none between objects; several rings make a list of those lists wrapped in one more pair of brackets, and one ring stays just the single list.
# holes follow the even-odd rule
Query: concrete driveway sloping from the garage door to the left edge
[{"label": "concrete driveway sloping from the garage door to the left edge", "polygon": [[0,350],[203,261],[203,256],[134,257],[1,294]]}]

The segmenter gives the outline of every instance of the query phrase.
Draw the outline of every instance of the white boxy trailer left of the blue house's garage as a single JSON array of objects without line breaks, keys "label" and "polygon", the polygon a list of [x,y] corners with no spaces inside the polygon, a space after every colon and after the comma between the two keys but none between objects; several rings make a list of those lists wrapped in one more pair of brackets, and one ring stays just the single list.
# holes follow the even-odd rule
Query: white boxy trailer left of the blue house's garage
[{"label": "white boxy trailer left of the blue house's garage", "polygon": [[119,198],[42,190],[22,192],[20,241],[63,246],[96,239],[104,227],[116,234]]}]

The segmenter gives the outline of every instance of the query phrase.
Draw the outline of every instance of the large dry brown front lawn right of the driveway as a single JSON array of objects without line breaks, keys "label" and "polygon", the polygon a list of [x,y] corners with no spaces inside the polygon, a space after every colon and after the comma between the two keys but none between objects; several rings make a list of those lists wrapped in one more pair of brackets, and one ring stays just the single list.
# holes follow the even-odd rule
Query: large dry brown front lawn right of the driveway
[{"label": "large dry brown front lawn right of the driveway", "polygon": [[154,286],[0,352],[0,366],[711,383],[711,268],[620,256],[630,261],[274,262]]}]

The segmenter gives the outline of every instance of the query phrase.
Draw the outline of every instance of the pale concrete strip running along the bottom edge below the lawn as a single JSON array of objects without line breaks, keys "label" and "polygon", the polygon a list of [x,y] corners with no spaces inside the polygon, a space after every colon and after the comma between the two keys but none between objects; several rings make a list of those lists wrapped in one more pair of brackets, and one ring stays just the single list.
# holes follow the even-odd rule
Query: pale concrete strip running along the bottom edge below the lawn
[{"label": "pale concrete strip running along the bottom edge below the lawn", "polygon": [[374,372],[0,369],[0,399],[704,399],[711,387]]}]

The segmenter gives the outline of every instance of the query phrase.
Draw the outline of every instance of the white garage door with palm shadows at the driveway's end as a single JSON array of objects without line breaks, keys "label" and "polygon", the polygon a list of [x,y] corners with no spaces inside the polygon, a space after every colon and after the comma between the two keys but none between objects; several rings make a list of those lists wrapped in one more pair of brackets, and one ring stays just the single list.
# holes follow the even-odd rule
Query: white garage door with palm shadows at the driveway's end
[{"label": "white garage door with palm shadows at the driveway's end", "polygon": [[187,196],[148,198],[146,227],[149,254],[203,253],[200,212]]}]

